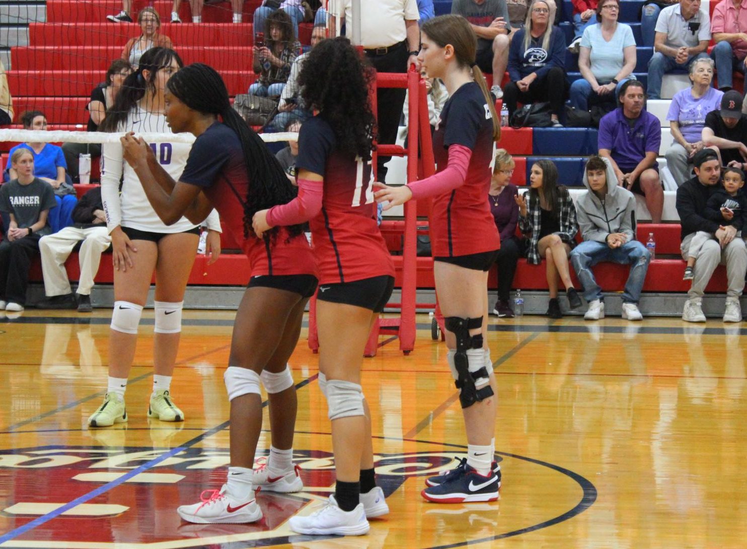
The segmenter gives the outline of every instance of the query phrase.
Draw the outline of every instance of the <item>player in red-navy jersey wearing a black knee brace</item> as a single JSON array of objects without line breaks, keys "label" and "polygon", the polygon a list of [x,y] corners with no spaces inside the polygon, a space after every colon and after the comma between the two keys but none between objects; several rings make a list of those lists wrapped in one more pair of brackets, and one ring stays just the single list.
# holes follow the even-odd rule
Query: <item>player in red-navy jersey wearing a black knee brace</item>
[{"label": "player in red-navy jersey wearing a black knee brace", "polygon": [[418,61],[429,78],[444,81],[450,96],[433,136],[438,173],[403,187],[376,182],[376,200],[388,201],[387,209],[409,199],[434,199],[433,274],[468,452],[459,467],[428,479],[423,497],[437,503],[492,501],[498,499],[500,487],[500,468],[493,462],[496,386],[489,350],[483,346],[488,270],[500,238],[485,197],[500,126],[483,73],[474,63],[477,38],[467,20],[439,16],[421,30]]}]

